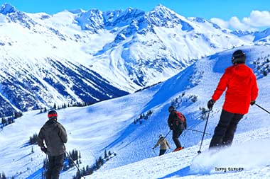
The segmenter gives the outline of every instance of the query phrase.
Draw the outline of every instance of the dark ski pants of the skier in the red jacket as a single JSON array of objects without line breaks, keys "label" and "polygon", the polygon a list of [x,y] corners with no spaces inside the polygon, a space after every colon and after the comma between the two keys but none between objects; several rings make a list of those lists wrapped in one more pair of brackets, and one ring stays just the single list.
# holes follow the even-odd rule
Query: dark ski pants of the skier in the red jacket
[{"label": "dark ski pants of the skier in the red jacket", "polygon": [[243,116],[244,115],[222,110],[220,122],[218,122],[217,127],[215,127],[215,134],[212,137],[209,147],[230,146],[234,139],[234,132],[237,129],[237,124]]}]

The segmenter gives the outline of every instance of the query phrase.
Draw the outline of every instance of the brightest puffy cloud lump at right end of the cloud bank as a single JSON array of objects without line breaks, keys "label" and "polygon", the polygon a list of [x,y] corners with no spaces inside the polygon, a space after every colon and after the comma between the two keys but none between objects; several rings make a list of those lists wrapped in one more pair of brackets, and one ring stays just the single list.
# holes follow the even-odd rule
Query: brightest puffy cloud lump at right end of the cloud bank
[{"label": "brightest puffy cloud lump at right end of the cloud bank", "polygon": [[270,26],[270,11],[252,11],[249,17],[243,18],[243,23],[254,27]]}]

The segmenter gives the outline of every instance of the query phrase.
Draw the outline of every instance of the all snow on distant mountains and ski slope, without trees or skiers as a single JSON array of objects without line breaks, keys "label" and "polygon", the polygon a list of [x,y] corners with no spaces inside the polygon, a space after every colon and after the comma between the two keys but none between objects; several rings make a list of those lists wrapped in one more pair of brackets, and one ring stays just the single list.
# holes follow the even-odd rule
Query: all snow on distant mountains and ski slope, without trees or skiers
[{"label": "all snow on distant mountains and ski slope, without trees or skiers", "polygon": [[[175,19],[166,21],[160,19],[161,16],[152,16],[158,9]],[[135,18],[128,16],[131,13]],[[253,64],[259,57],[269,57],[269,36],[258,35],[266,42],[254,45],[254,36],[250,34],[238,37],[208,21],[185,18],[164,6],[156,7],[151,16],[131,8],[107,12],[63,11],[53,16],[25,14],[37,24],[31,23],[29,28],[25,23],[9,22],[7,16],[0,14],[0,40],[4,43],[0,48],[1,71],[9,71],[16,79],[23,81],[26,75],[21,71],[31,71],[41,80],[48,75],[41,71],[43,68],[55,72],[54,76],[60,74],[66,78],[48,64],[49,58],[74,69],[73,64],[84,64],[109,83],[130,92],[163,81],[121,98],[58,110],[59,122],[68,132],[67,150],[81,152],[80,168],[95,163],[105,149],[117,154],[87,178],[270,178],[269,115],[255,105],[239,122],[231,148],[212,154],[207,151],[211,136],[205,136],[202,154],[197,156],[201,133],[186,130],[180,137],[185,146],[182,151],[171,153],[171,149],[164,156],[156,156],[151,149],[160,133],[169,132],[167,109],[175,98],[180,100],[177,110],[188,118],[188,128],[200,131],[204,128],[201,108],[206,108],[222,73],[231,65],[232,52],[239,48],[246,52],[247,65],[258,77],[257,103],[270,109],[269,75],[262,76]],[[89,25],[89,16],[97,18],[95,23],[99,27],[103,25],[100,18],[107,19],[111,26],[82,30],[80,25]],[[123,23],[123,19],[132,21],[131,25]],[[149,25],[146,23],[149,19],[164,22],[171,28]],[[181,24],[173,24],[176,20]],[[122,38],[117,39],[117,35]],[[4,73],[1,75],[6,77]],[[75,100],[80,100],[70,89],[71,84],[63,85]],[[67,100],[52,86],[46,83],[43,86],[48,90],[41,93],[49,92],[43,100],[50,103],[52,99],[59,103]],[[197,101],[192,102],[194,96]],[[207,133],[213,133],[223,102],[224,95],[210,114]],[[148,120],[141,120],[141,125],[134,124],[134,120],[148,110],[153,110]],[[0,130],[0,172],[16,178],[41,178],[45,154],[36,145],[32,154],[32,146],[27,142],[46,120],[46,114],[40,114],[39,110],[23,112],[23,117]],[[167,139],[173,148],[171,133]],[[227,171],[216,171],[216,168],[227,168]],[[228,171],[229,168],[244,168],[244,171]],[[76,172],[76,168],[70,168],[62,172],[60,178],[72,178]]]}]

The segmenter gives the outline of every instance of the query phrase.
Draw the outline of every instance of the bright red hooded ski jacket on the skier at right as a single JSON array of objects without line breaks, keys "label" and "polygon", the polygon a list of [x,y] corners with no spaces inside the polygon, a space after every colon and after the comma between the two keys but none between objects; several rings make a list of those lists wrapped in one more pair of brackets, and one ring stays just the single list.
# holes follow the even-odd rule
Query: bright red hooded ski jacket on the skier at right
[{"label": "bright red hooded ski jacket on the skier at right", "polygon": [[256,76],[245,64],[228,67],[217,85],[212,100],[218,100],[226,91],[223,110],[236,114],[247,114],[252,100],[258,96]]}]

